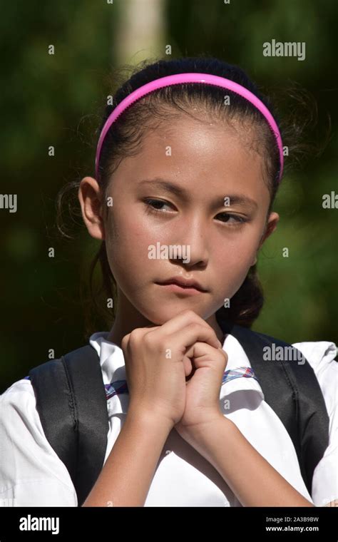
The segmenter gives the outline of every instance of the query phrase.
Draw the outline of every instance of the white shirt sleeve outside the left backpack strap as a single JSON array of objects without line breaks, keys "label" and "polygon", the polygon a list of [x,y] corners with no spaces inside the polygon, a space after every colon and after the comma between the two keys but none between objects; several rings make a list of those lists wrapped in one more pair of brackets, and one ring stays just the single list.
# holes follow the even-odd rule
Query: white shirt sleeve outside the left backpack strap
[{"label": "white shirt sleeve outside the left backpack strap", "polygon": [[0,395],[0,506],[78,506],[66,465],[43,432],[28,379]]}]

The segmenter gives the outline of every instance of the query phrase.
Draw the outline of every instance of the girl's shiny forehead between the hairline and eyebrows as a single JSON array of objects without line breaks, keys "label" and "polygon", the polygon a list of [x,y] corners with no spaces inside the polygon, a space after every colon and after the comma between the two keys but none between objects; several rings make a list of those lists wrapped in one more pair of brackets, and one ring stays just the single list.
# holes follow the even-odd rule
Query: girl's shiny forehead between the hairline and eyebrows
[{"label": "girl's shiny forehead between the hairline and eyebrows", "polygon": [[[195,121],[180,116],[173,123],[151,129],[137,154],[123,158],[116,170],[119,185],[130,190],[161,188],[144,180],[172,180],[187,193],[247,193],[262,198],[262,155],[243,126]],[[125,184],[126,183],[126,184]],[[144,191],[144,190],[143,190]],[[169,193],[169,192],[168,192]]]}]

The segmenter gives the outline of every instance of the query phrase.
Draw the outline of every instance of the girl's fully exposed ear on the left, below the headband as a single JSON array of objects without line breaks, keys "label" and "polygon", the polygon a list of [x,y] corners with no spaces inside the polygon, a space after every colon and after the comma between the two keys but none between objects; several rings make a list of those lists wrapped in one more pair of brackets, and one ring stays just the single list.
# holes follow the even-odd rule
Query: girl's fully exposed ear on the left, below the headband
[{"label": "girl's fully exposed ear on the left, below the headband", "polygon": [[101,188],[93,177],[84,177],[78,187],[78,200],[82,218],[91,237],[104,240],[104,224],[101,216]]}]

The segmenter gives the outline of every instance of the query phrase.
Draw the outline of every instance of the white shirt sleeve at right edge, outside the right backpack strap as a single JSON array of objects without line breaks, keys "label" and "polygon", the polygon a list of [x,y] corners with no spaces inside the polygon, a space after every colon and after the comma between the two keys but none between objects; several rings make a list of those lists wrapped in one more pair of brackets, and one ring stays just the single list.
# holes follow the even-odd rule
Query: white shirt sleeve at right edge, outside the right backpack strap
[{"label": "white shirt sleeve at right edge, outside the right backpack strap", "polygon": [[322,389],[329,414],[329,445],[314,469],[312,500],[325,506],[338,499],[338,362],[334,342],[302,342],[294,344],[302,350]]}]

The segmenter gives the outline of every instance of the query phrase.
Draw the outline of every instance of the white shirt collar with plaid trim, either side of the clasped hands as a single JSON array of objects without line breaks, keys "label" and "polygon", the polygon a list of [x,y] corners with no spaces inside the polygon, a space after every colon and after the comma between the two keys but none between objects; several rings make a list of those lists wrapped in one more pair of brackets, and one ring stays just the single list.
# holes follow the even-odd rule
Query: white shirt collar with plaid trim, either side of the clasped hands
[{"label": "white shirt collar with plaid trim, either side of the clasped hands", "polygon": [[[128,387],[126,386],[126,366],[123,351],[117,344],[108,341],[109,332],[96,332],[89,338],[89,343],[96,349],[100,358],[103,383],[106,388],[106,397],[109,410],[113,414],[128,411]],[[231,334],[225,334],[222,344],[227,352],[227,367],[220,388],[220,400],[227,395],[238,391],[256,391],[264,400],[264,394],[259,382],[255,378],[250,361],[240,343]]]}]

